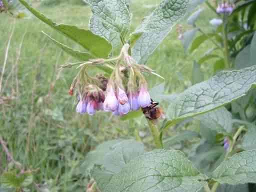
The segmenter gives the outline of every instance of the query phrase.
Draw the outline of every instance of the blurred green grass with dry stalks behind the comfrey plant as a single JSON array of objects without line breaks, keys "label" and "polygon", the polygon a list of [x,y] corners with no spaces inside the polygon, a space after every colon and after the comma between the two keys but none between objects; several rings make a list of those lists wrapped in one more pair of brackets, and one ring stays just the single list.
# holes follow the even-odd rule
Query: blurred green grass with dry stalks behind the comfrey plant
[{"label": "blurred green grass with dry stalks behind the comfrey plant", "polygon": [[[132,0],[131,29],[158,2],[159,0]],[[54,5],[45,1],[42,4],[34,2],[33,6],[57,23],[87,28],[90,8],[82,3],[74,4],[69,0]],[[198,24],[208,29],[209,18],[210,15],[204,11]],[[15,27],[3,75],[3,84],[6,86],[0,94],[0,135],[15,160],[25,168],[38,168],[33,175],[35,183],[41,184],[41,188],[45,187],[50,191],[84,191],[84,171],[79,170],[79,165],[84,161],[85,154],[103,140],[133,138],[137,127],[139,131],[149,135],[146,121],[142,117],[120,121],[103,112],[94,116],[76,114],[74,100],[67,94],[67,90],[77,71],[57,69],[60,64],[75,60],[51,43],[41,31],[65,44],[81,47],[34,17],[16,20],[14,24],[13,19],[1,14],[0,26],[3,26],[0,27],[0,63],[4,61],[11,28]],[[20,44],[22,48],[15,64]],[[202,55],[210,45],[202,45],[194,55],[185,55],[173,28],[152,54],[148,65],[165,78],[166,91],[181,91],[191,84],[192,60],[197,55]],[[0,71],[2,68],[0,65]],[[202,66],[204,71],[208,70],[205,77],[211,73],[211,68],[210,65]],[[150,87],[162,82],[154,76],[148,76],[147,79]],[[141,139],[149,148],[152,146],[150,136]],[[0,174],[7,166],[1,150],[0,148]]]}]

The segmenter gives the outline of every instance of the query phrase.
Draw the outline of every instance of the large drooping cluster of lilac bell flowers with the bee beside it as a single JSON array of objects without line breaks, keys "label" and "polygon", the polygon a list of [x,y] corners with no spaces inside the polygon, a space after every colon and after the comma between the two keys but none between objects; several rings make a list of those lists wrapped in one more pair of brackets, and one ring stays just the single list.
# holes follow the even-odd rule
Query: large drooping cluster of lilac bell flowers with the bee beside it
[{"label": "large drooping cluster of lilac bell flowers with the bee beside it", "polygon": [[112,112],[113,115],[124,115],[140,107],[149,106],[151,98],[141,72],[152,72],[152,70],[137,64],[128,55],[128,44],[125,44],[116,58],[115,67],[109,78],[103,75],[97,75],[96,78],[89,77],[86,72],[75,78],[69,94],[72,94],[73,88],[78,85],[76,112],[81,114],[87,112],[92,115],[97,110],[104,110]]}]

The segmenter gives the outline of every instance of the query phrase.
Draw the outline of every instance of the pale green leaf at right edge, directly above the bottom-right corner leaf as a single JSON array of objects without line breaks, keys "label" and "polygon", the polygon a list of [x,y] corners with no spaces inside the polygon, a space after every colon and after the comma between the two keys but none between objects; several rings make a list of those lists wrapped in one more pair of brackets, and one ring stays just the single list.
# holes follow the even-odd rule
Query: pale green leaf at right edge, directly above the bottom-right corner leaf
[{"label": "pale green leaf at right edge, directly above the bottom-right corner leaf", "polygon": [[252,123],[246,124],[248,130],[246,134],[243,136],[243,140],[241,143],[242,148],[249,150],[256,148],[256,125]]}]

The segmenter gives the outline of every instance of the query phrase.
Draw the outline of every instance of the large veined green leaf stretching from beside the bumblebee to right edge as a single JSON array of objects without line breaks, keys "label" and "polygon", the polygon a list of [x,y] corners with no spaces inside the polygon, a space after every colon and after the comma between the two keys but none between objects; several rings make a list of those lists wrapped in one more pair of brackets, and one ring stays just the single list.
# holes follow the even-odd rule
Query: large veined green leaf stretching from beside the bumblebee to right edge
[{"label": "large veined green leaf stretching from beside the bumblebee to right edge", "polygon": [[208,112],[243,95],[256,84],[256,65],[240,70],[221,71],[178,94],[169,105],[166,126],[187,117]]}]

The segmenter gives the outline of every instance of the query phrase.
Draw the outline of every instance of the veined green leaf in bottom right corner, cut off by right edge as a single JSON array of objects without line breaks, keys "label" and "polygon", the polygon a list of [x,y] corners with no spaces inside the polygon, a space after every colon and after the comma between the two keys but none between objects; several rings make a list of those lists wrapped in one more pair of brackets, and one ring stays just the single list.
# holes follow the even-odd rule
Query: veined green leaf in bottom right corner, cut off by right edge
[{"label": "veined green leaf in bottom right corner, cut off by right edge", "polygon": [[236,153],[224,160],[212,172],[212,177],[221,184],[256,182],[256,149]]}]

